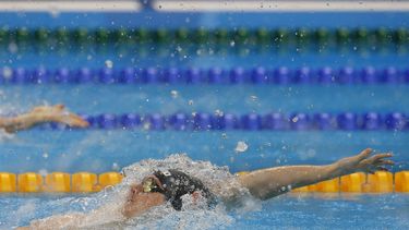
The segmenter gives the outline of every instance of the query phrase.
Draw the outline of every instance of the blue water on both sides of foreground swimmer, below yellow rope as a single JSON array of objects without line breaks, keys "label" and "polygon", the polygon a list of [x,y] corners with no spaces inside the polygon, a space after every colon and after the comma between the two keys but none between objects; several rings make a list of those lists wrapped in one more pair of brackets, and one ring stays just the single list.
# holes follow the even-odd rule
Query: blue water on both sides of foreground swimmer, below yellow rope
[{"label": "blue water on both sides of foreground swimmer, below yellow rope", "polygon": [[[227,215],[232,217],[233,221],[224,229],[407,229],[408,198],[406,194],[290,194],[263,202],[261,206],[245,213],[229,211]],[[55,199],[56,197],[50,196],[2,197],[0,229],[27,225],[33,218],[67,210],[85,211],[93,206],[89,204],[84,207],[75,197],[60,201],[70,206],[50,205]],[[160,222],[160,219],[158,221]],[[220,222],[220,226],[224,223]]]}]

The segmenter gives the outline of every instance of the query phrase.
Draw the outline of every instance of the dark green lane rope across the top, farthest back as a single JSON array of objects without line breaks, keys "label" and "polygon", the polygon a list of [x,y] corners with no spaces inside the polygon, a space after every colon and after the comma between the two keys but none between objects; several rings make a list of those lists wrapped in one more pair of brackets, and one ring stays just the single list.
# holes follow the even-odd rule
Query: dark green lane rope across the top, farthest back
[{"label": "dark green lane rope across the top, farthest back", "polygon": [[282,45],[292,44],[303,46],[317,44],[323,46],[357,46],[357,45],[407,45],[409,43],[409,28],[365,28],[365,27],[339,27],[328,28],[75,28],[64,27],[36,29],[0,28],[0,44],[15,43],[17,45],[44,45],[57,46],[81,45],[141,45],[141,44],[197,44],[197,45]]}]

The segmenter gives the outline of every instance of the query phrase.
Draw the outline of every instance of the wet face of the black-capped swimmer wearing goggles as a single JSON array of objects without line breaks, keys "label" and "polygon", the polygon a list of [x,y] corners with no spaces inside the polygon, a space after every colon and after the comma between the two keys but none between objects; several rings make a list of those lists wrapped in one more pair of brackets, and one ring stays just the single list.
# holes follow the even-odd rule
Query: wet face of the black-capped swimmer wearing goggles
[{"label": "wet face of the black-capped swimmer wearing goggles", "polygon": [[131,218],[145,210],[166,202],[165,195],[156,192],[144,192],[143,184],[131,186],[130,194],[123,207],[123,216]]}]

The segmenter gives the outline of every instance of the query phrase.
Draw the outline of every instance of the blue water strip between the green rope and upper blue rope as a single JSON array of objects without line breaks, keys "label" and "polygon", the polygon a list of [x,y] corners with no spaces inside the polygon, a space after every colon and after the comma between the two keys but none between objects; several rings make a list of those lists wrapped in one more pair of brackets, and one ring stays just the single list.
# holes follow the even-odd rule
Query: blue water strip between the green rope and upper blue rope
[{"label": "blue water strip between the green rope and upper blue rope", "polygon": [[[362,46],[362,45],[361,45]],[[0,51],[0,63],[4,66],[38,68],[104,68],[110,60],[115,68],[123,66],[157,66],[157,68],[253,68],[253,66],[288,66],[288,68],[323,68],[323,66],[396,66],[407,68],[409,57],[408,45],[400,49],[384,47],[381,50],[372,50],[373,47],[357,45],[345,49],[327,49],[288,46],[277,49],[273,46],[257,47],[190,47],[187,45],[160,46],[153,45],[123,47],[122,49],[109,48],[98,51],[96,48],[71,53],[69,50],[58,50],[46,47],[44,50],[24,50],[25,55],[16,55],[4,47]],[[52,46],[51,46],[52,47]],[[153,48],[155,47],[155,48]],[[17,52],[17,53],[19,53]],[[200,55],[197,55],[200,53]],[[67,61],[70,60],[70,61]],[[221,60],[221,61],[220,61]]]}]

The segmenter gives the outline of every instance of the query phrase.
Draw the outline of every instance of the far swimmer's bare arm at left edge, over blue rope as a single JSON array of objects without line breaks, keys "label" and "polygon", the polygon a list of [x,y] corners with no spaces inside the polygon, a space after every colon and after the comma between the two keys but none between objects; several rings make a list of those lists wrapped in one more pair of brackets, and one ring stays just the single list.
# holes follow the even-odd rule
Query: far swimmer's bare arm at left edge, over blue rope
[{"label": "far swimmer's bare arm at left edge, over blue rope", "polygon": [[63,105],[56,105],[39,106],[24,114],[0,118],[0,129],[8,133],[15,133],[46,122],[58,122],[73,128],[88,126],[88,122],[80,116],[68,112]]}]

